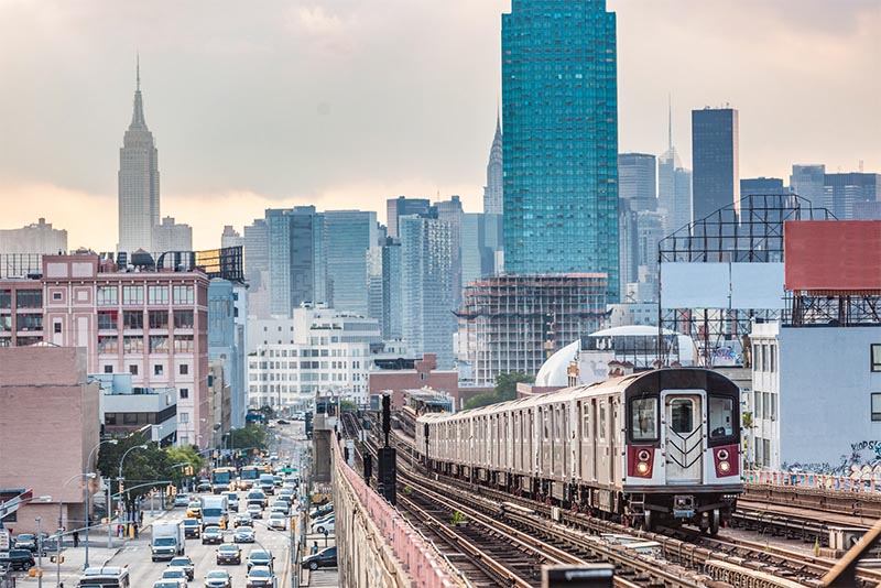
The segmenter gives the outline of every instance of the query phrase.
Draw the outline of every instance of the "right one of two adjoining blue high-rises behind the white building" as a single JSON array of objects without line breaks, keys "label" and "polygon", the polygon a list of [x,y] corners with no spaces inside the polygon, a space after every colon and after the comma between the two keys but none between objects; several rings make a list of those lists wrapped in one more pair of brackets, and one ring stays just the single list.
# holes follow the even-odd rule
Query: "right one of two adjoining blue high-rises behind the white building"
[{"label": "right one of two adjoining blue high-rises behind the white building", "polygon": [[362,210],[327,210],[326,222],[328,304],[338,311],[368,314],[367,252],[376,247],[377,214]]}]

